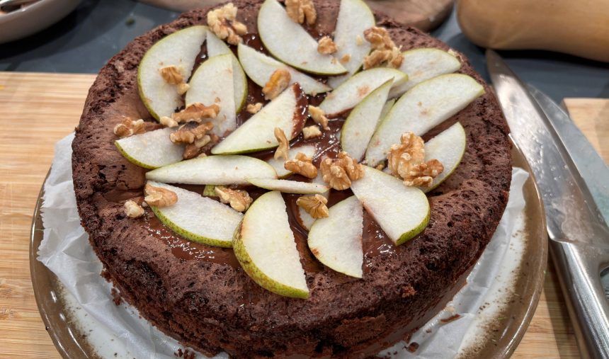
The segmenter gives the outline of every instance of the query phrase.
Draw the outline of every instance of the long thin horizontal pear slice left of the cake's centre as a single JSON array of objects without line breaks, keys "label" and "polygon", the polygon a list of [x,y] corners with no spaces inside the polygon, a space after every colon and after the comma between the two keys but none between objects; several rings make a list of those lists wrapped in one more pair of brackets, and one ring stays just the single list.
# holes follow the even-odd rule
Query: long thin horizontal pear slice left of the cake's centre
[{"label": "long thin horizontal pear slice left of the cake's centre", "polygon": [[271,165],[249,156],[188,159],[146,173],[150,181],[190,185],[248,185],[246,178],[275,178]]}]

